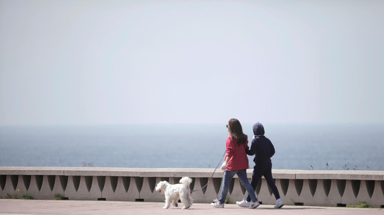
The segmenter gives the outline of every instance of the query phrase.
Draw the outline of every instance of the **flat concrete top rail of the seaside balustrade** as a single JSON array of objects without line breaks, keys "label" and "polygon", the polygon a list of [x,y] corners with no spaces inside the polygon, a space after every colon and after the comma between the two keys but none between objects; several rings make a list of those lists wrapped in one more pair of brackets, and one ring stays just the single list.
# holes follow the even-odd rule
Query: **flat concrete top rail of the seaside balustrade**
[{"label": "flat concrete top rail of the seaside balustrade", "polygon": [[[248,178],[252,171],[247,169]],[[213,172],[213,168],[0,167],[0,175],[211,177]],[[384,171],[362,170],[272,170],[272,175],[284,179],[384,180]],[[213,177],[223,177],[222,170],[217,169]]]}]

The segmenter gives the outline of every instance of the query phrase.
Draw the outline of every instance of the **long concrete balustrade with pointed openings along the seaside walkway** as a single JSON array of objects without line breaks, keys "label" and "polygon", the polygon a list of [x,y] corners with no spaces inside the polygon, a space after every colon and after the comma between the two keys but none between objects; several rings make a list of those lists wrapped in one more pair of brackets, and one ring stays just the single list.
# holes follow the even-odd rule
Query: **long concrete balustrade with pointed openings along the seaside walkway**
[{"label": "long concrete balustrade with pointed openings along the seaside walkway", "polygon": [[[0,167],[0,197],[20,194],[34,199],[53,199],[60,193],[70,200],[118,200],[163,202],[156,184],[166,180],[178,183],[181,177],[193,179],[190,188],[194,202],[210,203],[220,197],[221,170],[186,168],[98,168],[98,167]],[[250,180],[252,169],[247,170]],[[281,198],[287,205],[340,206],[365,201],[384,207],[384,171],[272,170]],[[210,180],[210,181],[209,181]],[[209,184],[202,190],[207,182]],[[255,190],[259,201],[275,204],[264,178]],[[230,203],[242,200],[247,192],[237,176],[229,193]]]}]

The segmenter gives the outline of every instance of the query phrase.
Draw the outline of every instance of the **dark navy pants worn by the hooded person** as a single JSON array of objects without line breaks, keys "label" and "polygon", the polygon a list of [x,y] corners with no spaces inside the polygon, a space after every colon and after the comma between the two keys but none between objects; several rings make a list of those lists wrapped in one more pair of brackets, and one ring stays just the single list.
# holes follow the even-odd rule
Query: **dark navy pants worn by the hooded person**
[{"label": "dark navy pants worn by the hooded person", "polygon": [[[253,167],[253,173],[252,173],[252,179],[251,179],[251,185],[253,190],[256,189],[257,183],[259,180],[264,176],[266,183],[268,186],[272,189],[273,195],[275,195],[276,200],[280,198],[279,191],[277,190],[277,187],[275,185],[275,181],[273,181],[272,178],[272,164],[271,165],[258,165]],[[247,196],[247,201],[251,201],[251,197]]]}]

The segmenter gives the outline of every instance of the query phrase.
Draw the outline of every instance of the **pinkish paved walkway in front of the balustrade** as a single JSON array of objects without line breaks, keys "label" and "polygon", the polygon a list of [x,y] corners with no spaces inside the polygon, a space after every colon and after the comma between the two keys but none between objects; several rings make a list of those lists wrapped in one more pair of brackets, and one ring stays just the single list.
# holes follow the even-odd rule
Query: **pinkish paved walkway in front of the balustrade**
[{"label": "pinkish paved walkway in front of the balustrade", "polygon": [[255,209],[241,208],[227,204],[225,208],[213,208],[209,204],[194,203],[182,210],[180,206],[162,209],[160,202],[114,202],[75,200],[17,200],[0,199],[0,214],[384,214],[381,208],[340,208],[288,206],[275,209],[273,205],[260,205]]}]

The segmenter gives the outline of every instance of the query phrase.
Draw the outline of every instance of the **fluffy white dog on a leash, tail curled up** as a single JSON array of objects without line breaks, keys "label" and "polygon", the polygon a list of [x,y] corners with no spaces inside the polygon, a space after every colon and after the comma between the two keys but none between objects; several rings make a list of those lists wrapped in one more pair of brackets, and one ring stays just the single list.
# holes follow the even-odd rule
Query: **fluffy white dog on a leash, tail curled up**
[{"label": "fluffy white dog on a leash, tail curled up", "polygon": [[189,184],[192,178],[182,177],[179,184],[170,184],[167,181],[159,182],[156,185],[156,192],[163,193],[166,196],[166,205],[164,209],[169,208],[170,203],[177,207],[177,201],[180,199],[184,203],[182,209],[191,207],[193,199],[191,197]]}]

